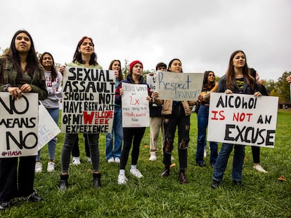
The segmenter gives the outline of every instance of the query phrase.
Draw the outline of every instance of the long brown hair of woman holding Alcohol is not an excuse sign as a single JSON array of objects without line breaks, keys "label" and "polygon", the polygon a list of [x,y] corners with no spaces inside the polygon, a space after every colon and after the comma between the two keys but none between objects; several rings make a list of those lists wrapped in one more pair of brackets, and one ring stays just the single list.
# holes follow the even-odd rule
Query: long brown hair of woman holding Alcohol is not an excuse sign
[{"label": "long brown hair of woman holding Alcohol is not an excuse sign", "polygon": [[[235,57],[236,54],[238,53],[243,53],[243,55],[245,55],[245,53],[243,52],[243,50],[235,50],[232,54],[231,57],[229,58],[229,62],[228,62],[228,69],[226,71],[226,87],[227,88],[231,88],[231,90],[233,90],[235,88],[235,70],[233,67],[233,57]],[[247,57],[245,55],[245,66],[243,67],[243,77],[245,78],[245,81],[247,81],[248,86],[250,86],[250,88],[252,90],[254,90],[254,78],[251,76],[250,74],[250,69],[249,67],[247,67]]]}]

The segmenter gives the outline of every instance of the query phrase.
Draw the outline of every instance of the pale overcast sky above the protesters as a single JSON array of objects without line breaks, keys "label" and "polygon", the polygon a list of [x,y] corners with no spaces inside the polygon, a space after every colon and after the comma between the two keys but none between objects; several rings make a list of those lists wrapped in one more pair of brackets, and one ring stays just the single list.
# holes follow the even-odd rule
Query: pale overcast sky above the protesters
[{"label": "pale overcast sky above the protesters", "polygon": [[183,71],[222,76],[234,50],[244,50],[261,79],[291,71],[290,0],[11,0],[1,1],[0,48],[18,29],[32,34],[39,53],[72,62],[82,36],[98,62],[141,60],[144,69],[177,57]]}]

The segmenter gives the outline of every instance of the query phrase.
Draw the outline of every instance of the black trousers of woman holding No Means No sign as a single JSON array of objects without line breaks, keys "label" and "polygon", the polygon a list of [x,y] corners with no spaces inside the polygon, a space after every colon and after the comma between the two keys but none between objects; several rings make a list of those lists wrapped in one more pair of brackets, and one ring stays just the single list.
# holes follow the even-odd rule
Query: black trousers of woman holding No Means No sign
[{"label": "black trousers of woman holding No Means No sign", "polygon": [[0,158],[0,202],[34,192],[35,157]]}]

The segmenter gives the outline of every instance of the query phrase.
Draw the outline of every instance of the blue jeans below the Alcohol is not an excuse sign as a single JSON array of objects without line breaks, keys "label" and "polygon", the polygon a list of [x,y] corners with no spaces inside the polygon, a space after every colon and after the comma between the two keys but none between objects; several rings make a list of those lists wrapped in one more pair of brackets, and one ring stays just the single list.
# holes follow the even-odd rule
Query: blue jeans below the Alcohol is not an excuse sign
[{"label": "blue jeans below the Alcohol is not an excuse sign", "polygon": [[228,158],[233,151],[233,170],[231,172],[231,179],[236,182],[242,180],[242,172],[243,172],[243,159],[245,158],[245,146],[239,144],[227,144],[223,143],[221,146],[221,150],[219,151],[219,156],[216,159],[216,163],[214,165],[214,172],[212,175],[212,179],[217,182],[221,182],[222,177],[224,177],[224,171],[226,170],[226,165],[228,162]]}]

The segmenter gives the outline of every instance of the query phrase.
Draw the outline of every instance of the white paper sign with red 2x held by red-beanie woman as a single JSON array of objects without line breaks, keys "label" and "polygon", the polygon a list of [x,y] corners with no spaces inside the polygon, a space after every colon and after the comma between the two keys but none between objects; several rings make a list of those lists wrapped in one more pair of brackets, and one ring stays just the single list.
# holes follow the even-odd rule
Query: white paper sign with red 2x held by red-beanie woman
[{"label": "white paper sign with red 2x held by red-beanie woman", "polygon": [[122,83],[122,127],[150,126],[148,86]]}]

